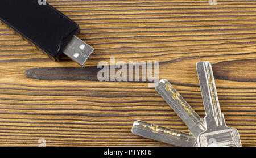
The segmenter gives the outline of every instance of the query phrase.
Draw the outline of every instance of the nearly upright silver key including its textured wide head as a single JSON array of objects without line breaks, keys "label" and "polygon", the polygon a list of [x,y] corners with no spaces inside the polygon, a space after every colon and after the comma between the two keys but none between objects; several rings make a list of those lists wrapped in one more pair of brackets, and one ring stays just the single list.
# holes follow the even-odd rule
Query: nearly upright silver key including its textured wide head
[{"label": "nearly upright silver key including its textured wide head", "polygon": [[225,124],[221,113],[212,65],[209,62],[198,62],[196,65],[205,109],[206,130],[198,136],[199,146],[236,146],[241,147],[237,129]]}]

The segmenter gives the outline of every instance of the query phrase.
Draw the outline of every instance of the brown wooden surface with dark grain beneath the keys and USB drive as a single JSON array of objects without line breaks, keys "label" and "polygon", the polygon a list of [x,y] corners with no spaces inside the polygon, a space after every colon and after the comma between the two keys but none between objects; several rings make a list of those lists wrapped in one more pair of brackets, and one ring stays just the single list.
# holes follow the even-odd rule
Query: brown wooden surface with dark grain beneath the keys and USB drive
[{"label": "brown wooden surface with dark grain beneath the keys and USB drive", "polygon": [[[221,110],[242,146],[256,146],[256,1],[52,1],[95,51],[84,68],[53,62],[0,25],[0,146],[168,146],[131,133],[133,121],[188,131],[147,83],[98,82],[100,61],[159,61],[204,117],[198,61],[213,65]],[[96,72],[95,72],[96,71]],[[94,74],[94,75],[91,75]]]}]

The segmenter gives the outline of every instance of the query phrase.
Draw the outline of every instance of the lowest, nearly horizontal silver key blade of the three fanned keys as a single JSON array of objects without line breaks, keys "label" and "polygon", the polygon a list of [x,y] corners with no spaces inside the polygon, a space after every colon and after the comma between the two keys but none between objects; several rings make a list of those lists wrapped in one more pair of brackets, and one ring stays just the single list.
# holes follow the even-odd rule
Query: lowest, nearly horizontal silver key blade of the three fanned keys
[{"label": "lowest, nearly horizontal silver key blade of the three fanned keys", "polygon": [[187,134],[140,120],[133,123],[131,131],[135,135],[179,147],[193,147],[196,143],[196,138],[191,133]]}]

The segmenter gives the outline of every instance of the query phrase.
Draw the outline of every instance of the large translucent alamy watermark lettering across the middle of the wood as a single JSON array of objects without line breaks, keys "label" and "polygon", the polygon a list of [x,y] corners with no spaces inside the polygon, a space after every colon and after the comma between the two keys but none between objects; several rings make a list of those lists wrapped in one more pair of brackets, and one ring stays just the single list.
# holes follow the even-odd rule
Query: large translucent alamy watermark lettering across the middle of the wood
[{"label": "large translucent alamy watermark lettering across the middle of the wood", "polygon": [[[118,61],[110,57],[110,64],[106,61],[98,62],[97,78],[99,81],[117,82],[148,82],[148,87],[154,87],[159,81],[159,62],[155,61]],[[153,75],[154,74],[154,75]]]}]

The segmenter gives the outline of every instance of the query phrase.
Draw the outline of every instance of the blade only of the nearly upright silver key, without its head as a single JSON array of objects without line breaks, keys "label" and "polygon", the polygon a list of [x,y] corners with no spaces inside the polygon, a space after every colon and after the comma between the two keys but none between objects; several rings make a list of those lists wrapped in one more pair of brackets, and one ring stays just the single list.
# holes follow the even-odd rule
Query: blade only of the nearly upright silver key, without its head
[{"label": "blade only of the nearly upright silver key, without its head", "polygon": [[224,118],[221,114],[220,103],[218,101],[212,65],[209,62],[198,62],[196,69],[206,117],[214,118],[214,122],[216,123],[215,126],[225,125]]}]

